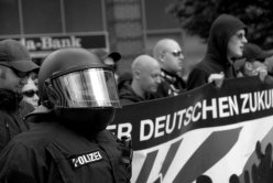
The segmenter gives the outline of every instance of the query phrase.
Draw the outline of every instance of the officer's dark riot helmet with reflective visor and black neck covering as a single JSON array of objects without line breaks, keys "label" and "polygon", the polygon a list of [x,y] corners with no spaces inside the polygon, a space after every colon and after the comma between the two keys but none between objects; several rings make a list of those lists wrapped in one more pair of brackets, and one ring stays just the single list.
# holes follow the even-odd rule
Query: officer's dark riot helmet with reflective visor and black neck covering
[{"label": "officer's dark riot helmet with reflective visor and black neck covering", "polygon": [[102,130],[120,107],[113,71],[84,49],[50,54],[39,73],[41,104],[65,121],[88,122]]}]

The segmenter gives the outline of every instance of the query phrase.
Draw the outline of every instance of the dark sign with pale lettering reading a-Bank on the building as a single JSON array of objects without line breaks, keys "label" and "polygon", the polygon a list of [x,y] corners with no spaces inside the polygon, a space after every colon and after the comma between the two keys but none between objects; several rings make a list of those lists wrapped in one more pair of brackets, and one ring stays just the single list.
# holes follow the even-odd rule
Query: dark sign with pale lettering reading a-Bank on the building
[{"label": "dark sign with pale lettering reading a-Bank on the building", "polygon": [[26,46],[32,57],[45,57],[48,53],[64,47],[83,47],[87,50],[108,47],[106,33],[96,35],[44,35],[17,40],[20,40]]}]

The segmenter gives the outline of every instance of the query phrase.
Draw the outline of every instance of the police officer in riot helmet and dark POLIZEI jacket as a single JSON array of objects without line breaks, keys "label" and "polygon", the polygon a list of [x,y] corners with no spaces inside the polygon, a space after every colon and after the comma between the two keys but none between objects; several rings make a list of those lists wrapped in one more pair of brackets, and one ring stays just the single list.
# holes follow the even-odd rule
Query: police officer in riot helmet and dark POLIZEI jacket
[{"label": "police officer in riot helmet and dark POLIZEI jacket", "polygon": [[131,143],[106,130],[120,107],[112,68],[84,49],[58,50],[41,66],[39,90],[31,130],[0,157],[0,182],[130,182]]}]

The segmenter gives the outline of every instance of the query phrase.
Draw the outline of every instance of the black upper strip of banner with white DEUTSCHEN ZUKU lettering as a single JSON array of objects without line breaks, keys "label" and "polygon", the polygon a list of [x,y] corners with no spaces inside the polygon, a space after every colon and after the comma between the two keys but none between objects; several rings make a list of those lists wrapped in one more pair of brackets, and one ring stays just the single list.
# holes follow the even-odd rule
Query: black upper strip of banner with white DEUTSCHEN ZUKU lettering
[{"label": "black upper strip of banner with white DEUTSCHEN ZUKU lettering", "polygon": [[189,130],[271,116],[272,108],[272,86],[258,77],[227,79],[221,88],[208,84],[179,96],[124,106],[108,129],[120,137],[131,134],[133,149],[141,150]]}]

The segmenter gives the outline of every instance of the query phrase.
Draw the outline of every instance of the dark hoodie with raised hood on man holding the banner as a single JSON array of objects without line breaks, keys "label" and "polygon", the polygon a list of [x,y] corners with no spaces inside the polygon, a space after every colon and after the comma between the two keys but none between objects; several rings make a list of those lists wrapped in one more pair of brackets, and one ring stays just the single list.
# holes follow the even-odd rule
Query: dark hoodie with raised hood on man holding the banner
[{"label": "dark hoodie with raised hood on man holding the banner", "polygon": [[229,39],[237,31],[244,29],[247,25],[239,19],[221,14],[215,20],[209,31],[208,49],[203,61],[190,72],[187,80],[187,89],[193,89],[208,83],[210,74],[220,74],[223,72],[226,78],[236,77],[233,65],[227,57]]}]

